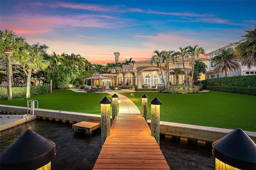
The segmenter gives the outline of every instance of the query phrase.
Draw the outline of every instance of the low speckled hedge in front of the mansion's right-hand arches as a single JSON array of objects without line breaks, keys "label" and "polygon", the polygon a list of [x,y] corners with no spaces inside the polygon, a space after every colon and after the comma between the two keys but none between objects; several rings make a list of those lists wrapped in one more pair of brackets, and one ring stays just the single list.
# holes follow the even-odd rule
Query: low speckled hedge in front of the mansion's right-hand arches
[{"label": "low speckled hedge in front of the mansion's right-hand arches", "polygon": [[198,93],[199,86],[183,86],[183,85],[172,85],[172,86],[160,86],[157,91],[159,93]]}]

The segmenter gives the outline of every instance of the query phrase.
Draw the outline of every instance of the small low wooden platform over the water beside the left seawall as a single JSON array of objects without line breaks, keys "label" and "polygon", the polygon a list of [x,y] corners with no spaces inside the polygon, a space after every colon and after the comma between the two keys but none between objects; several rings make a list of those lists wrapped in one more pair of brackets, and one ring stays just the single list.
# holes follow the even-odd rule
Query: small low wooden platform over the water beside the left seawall
[{"label": "small low wooden platform over the water beside the left seawall", "polygon": [[81,121],[72,125],[72,129],[74,129],[75,132],[85,130],[87,134],[92,134],[92,131],[99,127],[101,127],[101,121],[95,120]]}]

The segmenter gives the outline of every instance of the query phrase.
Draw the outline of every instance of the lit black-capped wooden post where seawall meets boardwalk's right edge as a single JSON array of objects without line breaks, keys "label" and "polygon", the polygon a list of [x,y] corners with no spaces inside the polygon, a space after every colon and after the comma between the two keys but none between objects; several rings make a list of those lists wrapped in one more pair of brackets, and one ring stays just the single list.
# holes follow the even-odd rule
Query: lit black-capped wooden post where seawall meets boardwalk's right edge
[{"label": "lit black-capped wooden post where seawall meets boardwalk's right edge", "polygon": [[158,98],[150,101],[151,104],[151,136],[154,136],[157,144],[160,143],[160,105]]}]

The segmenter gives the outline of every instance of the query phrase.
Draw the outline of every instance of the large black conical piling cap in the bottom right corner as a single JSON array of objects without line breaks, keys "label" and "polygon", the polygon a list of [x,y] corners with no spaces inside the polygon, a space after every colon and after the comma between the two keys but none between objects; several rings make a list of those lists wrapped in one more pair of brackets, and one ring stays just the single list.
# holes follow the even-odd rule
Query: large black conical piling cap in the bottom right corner
[{"label": "large black conical piling cap in the bottom right corner", "polygon": [[240,128],[212,143],[212,155],[239,169],[256,169],[256,144]]}]

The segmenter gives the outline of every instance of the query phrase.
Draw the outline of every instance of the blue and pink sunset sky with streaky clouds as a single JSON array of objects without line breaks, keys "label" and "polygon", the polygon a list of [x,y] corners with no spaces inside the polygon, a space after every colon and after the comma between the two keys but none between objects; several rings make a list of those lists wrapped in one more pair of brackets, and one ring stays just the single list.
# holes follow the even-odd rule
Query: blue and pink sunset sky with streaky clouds
[{"label": "blue and pink sunset sky with streaky clouds", "polygon": [[48,53],[92,64],[148,60],[154,50],[198,44],[206,53],[241,39],[256,24],[256,1],[1,0],[0,27]]}]

